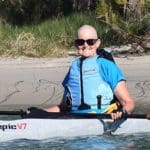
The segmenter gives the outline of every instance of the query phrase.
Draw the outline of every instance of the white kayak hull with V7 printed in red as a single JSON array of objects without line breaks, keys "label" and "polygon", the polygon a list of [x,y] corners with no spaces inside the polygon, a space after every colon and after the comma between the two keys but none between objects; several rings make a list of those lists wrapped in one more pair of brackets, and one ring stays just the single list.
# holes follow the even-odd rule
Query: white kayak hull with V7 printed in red
[{"label": "white kayak hull with V7 printed in red", "polygon": [[[150,132],[147,119],[127,119],[112,134]],[[19,119],[0,121],[0,142],[15,139],[44,140],[104,134],[99,119]]]}]

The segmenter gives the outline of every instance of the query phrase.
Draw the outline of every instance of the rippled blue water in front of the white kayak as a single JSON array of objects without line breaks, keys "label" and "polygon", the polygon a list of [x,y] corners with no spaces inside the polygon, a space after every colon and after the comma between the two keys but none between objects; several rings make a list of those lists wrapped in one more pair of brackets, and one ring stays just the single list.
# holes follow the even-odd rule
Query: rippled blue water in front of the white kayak
[{"label": "rippled blue water in front of the white kayak", "polygon": [[150,134],[91,136],[44,141],[15,140],[0,143],[0,150],[149,150]]}]

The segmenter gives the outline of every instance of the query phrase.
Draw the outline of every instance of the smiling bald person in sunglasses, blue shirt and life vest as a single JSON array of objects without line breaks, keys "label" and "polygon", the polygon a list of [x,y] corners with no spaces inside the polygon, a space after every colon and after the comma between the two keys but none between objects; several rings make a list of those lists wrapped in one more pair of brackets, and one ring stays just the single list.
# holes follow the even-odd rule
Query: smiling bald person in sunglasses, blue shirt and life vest
[{"label": "smiling bald person in sunglasses, blue shirt and life vest", "polygon": [[113,120],[133,111],[135,102],[126,79],[114,62],[97,54],[100,45],[101,39],[93,26],[83,25],[78,29],[75,46],[80,57],[72,61],[62,83],[63,102],[46,111],[110,113]]}]

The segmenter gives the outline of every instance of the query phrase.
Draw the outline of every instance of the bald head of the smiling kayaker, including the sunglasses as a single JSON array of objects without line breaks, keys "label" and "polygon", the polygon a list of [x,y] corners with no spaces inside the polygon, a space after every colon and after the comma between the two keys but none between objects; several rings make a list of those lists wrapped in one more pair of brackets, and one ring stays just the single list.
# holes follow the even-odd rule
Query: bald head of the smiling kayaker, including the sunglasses
[{"label": "bald head of the smiling kayaker, including the sunglasses", "polygon": [[78,53],[83,57],[90,57],[96,54],[97,48],[100,46],[96,29],[90,25],[83,25],[78,29],[75,45]]}]

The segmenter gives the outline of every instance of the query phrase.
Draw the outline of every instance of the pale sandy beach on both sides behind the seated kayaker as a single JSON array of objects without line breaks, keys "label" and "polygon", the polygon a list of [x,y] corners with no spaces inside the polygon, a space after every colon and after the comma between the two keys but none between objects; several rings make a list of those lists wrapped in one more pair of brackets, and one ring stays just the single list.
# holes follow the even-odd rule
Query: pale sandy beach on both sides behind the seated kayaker
[{"label": "pale sandy beach on both sides behind the seated kayaker", "polygon": [[[60,103],[61,81],[72,59],[0,58],[0,109]],[[146,107],[150,100],[150,55],[115,60],[127,78],[131,95]]]}]

